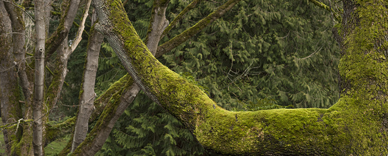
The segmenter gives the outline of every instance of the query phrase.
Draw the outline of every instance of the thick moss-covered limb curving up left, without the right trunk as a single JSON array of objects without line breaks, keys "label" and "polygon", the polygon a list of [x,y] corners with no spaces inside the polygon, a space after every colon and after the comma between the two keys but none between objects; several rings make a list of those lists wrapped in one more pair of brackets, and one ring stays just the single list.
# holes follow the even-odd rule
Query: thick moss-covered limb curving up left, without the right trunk
[{"label": "thick moss-covered limb curving up left, without the right trunk", "polygon": [[197,86],[152,56],[122,11],[120,1],[95,0],[93,5],[100,19],[96,29],[106,35],[128,73],[208,150],[226,155],[322,155],[326,146],[338,143],[332,143],[335,137],[327,138],[337,136],[341,130],[332,125],[337,122],[331,118],[334,109],[222,109]]}]

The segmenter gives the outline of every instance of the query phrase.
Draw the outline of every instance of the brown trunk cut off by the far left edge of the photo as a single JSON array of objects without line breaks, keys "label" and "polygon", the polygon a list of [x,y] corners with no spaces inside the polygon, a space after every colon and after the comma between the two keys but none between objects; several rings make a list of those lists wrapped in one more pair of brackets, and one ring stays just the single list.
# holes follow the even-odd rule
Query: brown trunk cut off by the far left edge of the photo
[{"label": "brown trunk cut off by the far left edge of the photo", "polygon": [[[11,20],[5,10],[3,1],[0,1],[0,109],[3,124],[15,123],[21,117],[18,103],[18,78],[13,56]],[[20,129],[18,129],[20,130]],[[11,151],[21,134],[16,132],[16,127],[3,130],[5,152],[11,155]]]}]

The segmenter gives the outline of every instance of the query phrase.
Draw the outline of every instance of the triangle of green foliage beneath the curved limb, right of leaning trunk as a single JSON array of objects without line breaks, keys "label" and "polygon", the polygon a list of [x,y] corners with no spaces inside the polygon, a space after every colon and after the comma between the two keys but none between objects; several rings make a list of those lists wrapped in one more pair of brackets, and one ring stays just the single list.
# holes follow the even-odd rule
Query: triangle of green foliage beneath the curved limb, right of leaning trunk
[{"label": "triangle of green foliage beneath the curved limb, right of leaning trunk", "polygon": [[109,136],[97,156],[208,155],[189,130],[142,92]]}]

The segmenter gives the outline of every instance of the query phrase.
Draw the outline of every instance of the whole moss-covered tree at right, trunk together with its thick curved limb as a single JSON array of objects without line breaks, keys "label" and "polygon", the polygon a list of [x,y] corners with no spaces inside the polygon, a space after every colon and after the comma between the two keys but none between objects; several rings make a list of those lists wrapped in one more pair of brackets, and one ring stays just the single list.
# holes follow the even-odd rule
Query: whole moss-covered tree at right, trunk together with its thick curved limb
[{"label": "whole moss-covered tree at right, trunk together with its thick curved limb", "polygon": [[[131,26],[121,1],[95,0],[96,29],[141,89],[208,150],[224,155],[388,154],[388,2],[344,1],[341,99],[330,109],[230,112],[158,62]],[[117,18],[121,17],[121,18]]]}]

